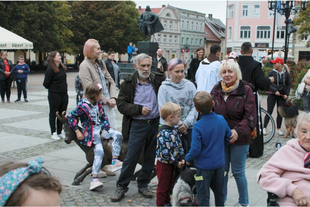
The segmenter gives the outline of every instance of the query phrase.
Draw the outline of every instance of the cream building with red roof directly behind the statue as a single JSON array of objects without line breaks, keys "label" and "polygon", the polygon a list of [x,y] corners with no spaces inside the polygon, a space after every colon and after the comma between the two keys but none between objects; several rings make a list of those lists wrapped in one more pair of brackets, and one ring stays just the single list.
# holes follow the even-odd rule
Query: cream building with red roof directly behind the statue
[{"label": "cream building with red roof directly behind the statue", "polygon": [[[162,8],[151,8],[156,13],[164,30],[157,32],[152,36],[151,41],[158,42],[159,48],[162,49],[162,55],[167,62],[173,58],[180,58],[180,17],[179,12],[175,12],[169,5],[162,5]],[[139,13],[145,9],[139,6]],[[156,39],[154,38],[156,37]],[[139,49],[139,48],[138,48]]]}]

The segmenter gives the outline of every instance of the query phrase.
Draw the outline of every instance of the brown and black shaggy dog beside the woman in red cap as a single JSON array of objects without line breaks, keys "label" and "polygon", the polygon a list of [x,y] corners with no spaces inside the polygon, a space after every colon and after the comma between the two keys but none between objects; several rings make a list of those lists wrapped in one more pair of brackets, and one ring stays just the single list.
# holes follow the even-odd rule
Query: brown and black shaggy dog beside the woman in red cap
[{"label": "brown and black shaggy dog beside the woman in red cap", "polygon": [[298,109],[290,101],[291,99],[287,100],[287,104],[285,107],[278,107],[279,114],[281,115],[281,117],[284,118],[284,123],[286,127],[286,135],[284,136],[285,138],[290,135],[290,132],[292,132],[292,137],[295,138],[294,130],[297,124],[296,117],[298,116]]}]

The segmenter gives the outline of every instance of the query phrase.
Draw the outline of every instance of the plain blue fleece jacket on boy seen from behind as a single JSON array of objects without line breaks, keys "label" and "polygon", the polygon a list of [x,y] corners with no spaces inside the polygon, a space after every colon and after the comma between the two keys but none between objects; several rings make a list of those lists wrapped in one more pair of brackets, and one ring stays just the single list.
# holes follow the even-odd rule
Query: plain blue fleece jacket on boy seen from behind
[{"label": "plain blue fleece jacket on boy seen from behind", "polygon": [[231,130],[223,116],[211,112],[202,114],[201,119],[194,123],[191,149],[185,156],[186,162],[196,159],[197,168],[215,170],[223,167],[224,142],[229,144]]}]

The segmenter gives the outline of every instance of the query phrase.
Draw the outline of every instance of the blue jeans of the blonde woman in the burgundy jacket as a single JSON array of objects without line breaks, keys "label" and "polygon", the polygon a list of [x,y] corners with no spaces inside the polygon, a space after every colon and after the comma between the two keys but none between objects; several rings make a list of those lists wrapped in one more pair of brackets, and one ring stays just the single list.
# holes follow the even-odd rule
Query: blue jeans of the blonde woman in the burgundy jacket
[{"label": "blue jeans of the blonde woman in the burgundy jacket", "polygon": [[239,204],[248,205],[248,182],[246,180],[246,155],[249,152],[250,144],[229,144],[225,146],[225,165],[224,170],[226,175],[224,176],[224,195],[225,201],[227,201],[227,183],[229,164],[232,166],[232,176],[235,178],[239,193]]}]

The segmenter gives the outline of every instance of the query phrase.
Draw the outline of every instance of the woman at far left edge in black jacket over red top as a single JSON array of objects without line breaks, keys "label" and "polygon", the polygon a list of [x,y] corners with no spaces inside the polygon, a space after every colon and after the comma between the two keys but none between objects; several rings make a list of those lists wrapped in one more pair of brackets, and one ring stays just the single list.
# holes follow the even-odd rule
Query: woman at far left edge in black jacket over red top
[{"label": "woman at far left edge in black jacket over red top", "polygon": [[0,59],[0,94],[1,103],[4,103],[5,94],[7,94],[7,102],[11,103],[11,85],[13,81],[14,66],[11,60],[7,59],[7,52],[2,51]]}]

